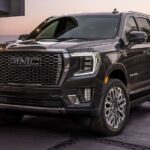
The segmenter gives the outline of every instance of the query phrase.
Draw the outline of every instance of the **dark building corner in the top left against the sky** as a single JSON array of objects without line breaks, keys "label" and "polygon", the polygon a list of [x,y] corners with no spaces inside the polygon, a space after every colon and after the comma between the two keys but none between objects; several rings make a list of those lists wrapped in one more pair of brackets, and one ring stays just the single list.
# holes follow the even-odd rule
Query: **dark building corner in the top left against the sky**
[{"label": "dark building corner in the top left against the sky", "polygon": [[23,16],[25,14],[24,0],[0,0],[0,16]]}]

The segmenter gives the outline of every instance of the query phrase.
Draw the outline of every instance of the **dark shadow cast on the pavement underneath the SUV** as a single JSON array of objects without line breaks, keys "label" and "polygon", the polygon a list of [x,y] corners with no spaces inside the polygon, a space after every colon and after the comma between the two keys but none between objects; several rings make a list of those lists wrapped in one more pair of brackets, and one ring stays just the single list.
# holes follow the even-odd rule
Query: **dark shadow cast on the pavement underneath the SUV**
[{"label": "dark shadow cast on the pavement underneath the SUV", "polygon": [[[150,103],[144,103],[141,107],[131,109],[129,122],[126,128],[132,128],[132,124],[138,124],[143,118],[150,116]],[[89,130],[88,126],[74,122],[68,117],[44,117],[44,116],[25,116],[19,126],[1,126],[2,129],[30,129],[34,132],[41,131],[53,134],[68,134],[73,136],[85,137],[103,137],[102,135],[94,134]],[[26,131],[26,130],[25,130]],[[123,134],[123,133],[122,133]]]}]

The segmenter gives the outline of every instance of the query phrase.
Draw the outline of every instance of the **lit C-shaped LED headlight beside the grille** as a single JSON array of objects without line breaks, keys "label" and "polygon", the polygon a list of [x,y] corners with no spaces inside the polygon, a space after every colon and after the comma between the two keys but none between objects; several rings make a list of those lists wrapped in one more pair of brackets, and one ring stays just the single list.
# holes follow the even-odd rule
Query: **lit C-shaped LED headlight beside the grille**
[{"label": "lit C-shaped LED headlight beside the grille", "polygon": [[74,76],[94,74],[100,66],[100,54],[98,52],[71,53],[71,57],[80,58],[80,69]]}]

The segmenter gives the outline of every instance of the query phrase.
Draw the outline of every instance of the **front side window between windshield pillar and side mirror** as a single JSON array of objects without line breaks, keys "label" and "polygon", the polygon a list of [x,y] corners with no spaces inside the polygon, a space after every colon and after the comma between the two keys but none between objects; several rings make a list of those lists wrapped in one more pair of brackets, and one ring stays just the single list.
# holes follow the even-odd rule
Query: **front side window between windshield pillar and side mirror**
[{"label": "front side window between windshield pillar and side mirror", "polygon": [[128,42],[129,33],[131,31],[137,31],[137,30],[138,29],[137,29],[135,19],[133,17],[129,17],[125,24],[125,30],[124,30],[125,40]]}]

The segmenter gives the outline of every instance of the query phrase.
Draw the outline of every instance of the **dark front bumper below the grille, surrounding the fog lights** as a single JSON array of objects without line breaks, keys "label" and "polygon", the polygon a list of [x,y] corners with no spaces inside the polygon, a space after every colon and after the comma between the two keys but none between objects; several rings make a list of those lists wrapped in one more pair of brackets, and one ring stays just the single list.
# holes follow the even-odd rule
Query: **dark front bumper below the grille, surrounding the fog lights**
[{"label": "dark front bumper below the grille, surrounding the fog lights", "polygon": [[[102,86],[95,77],[70,78],[61,88],[0,85],[0,109],[26,114],[97,116]],[[77,94],[81,88],[93,89],[91,102],[72,105],[67,95]]]}]

